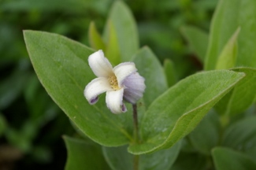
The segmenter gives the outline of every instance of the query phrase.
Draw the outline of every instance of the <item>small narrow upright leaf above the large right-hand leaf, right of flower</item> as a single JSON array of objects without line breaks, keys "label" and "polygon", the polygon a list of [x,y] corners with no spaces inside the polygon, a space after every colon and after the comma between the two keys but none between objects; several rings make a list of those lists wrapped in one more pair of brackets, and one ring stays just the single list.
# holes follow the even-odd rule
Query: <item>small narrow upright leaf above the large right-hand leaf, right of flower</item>
[{"label": "small narrow upright leaf above the large right-hand leaf, right of flower", "polygon": [[165,59],[164,71],[165,71],[165,76],[168,82],[168,87],[172,87],[175,83],[177,83],[176,70],[174,68],[173,61],[169,59]]}]

